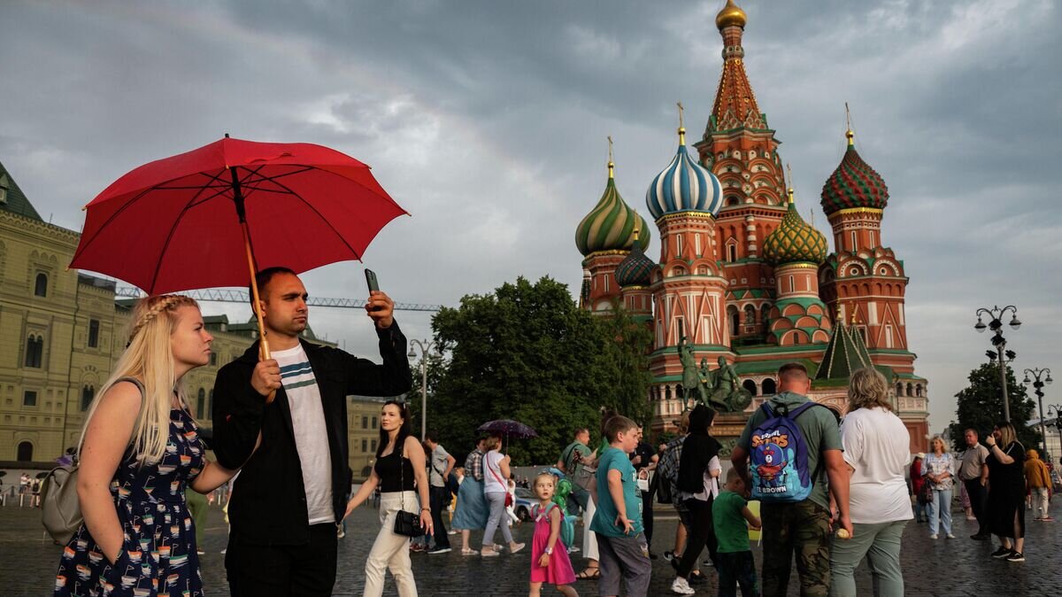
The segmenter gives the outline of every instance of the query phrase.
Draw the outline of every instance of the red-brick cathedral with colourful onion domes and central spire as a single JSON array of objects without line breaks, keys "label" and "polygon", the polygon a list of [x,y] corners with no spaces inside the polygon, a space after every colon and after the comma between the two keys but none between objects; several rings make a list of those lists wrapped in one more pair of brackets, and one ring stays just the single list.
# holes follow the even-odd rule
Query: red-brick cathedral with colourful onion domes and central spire
[{"label": "red-brick cathedral with colourful onion domes and central spire", "polygon": [[717,420],[714,433],[724,445],[775,393],[778,366],[798,361],[813,378],[810,397],[840,415],[850,373],[875,366],[890,381],[911,451],[923,451],[927,381],[907,343],[904,262],[883,244],[888,188],[849,130],[844,156],[822,187],[830,253],[786,187],[780,143],[744,70],[746,23],[727,0],[716,17],[723,68],[704,135],[691,151],[680,125],[678,151],[649,185],[646,206],[661,238],[656,261],[645,254],[648,223],[620,197],[610,160],[604,193],[576,232],[584,256],[581,304],[598,314],[620,305],[652,329],[656,432],[673,430],[686,408],[685,343],[713,369],[722,357],[752,396]]}]

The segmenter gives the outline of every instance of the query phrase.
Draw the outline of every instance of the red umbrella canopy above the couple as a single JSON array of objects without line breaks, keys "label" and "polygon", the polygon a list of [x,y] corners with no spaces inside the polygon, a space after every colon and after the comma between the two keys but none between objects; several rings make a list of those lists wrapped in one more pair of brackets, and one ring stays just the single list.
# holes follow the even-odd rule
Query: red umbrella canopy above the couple
[{"label": "red umbrella canopy above the couple", "polygon": [[228,137],[132,170],[85,209],[70,267],[149,294],[246,286],[249,252],[295,272],[360,259],[406,214],[348,155]]}]

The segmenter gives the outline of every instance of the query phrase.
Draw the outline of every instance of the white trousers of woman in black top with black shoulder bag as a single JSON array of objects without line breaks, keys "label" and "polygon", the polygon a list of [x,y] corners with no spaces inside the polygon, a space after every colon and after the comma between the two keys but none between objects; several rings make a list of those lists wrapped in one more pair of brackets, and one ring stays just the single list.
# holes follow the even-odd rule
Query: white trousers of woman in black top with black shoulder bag
[{"label": "white trousers of woman in black top with black shoulder bag", "polygon": [[384,575],[389,569],[395,577],[399,597],[416,597],[416,581],[413,579],[413,567],[409,560],[409,538],[395,534],[393,530],[395,516],[402,502],[407,512],[418,512],[421,509],[415,492],[380,494],[380,532],[373,542],[369,559],[365,560],[364,597],[383,595]]}]

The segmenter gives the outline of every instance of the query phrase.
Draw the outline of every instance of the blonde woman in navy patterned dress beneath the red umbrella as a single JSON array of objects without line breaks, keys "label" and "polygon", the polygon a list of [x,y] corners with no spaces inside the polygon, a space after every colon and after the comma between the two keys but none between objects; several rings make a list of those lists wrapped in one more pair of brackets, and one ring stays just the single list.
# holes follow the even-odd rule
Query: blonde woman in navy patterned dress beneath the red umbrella
[{"label": "blonde woman in navy patterned dress beneath the red umbrella", "polygon": [[85,416],[85,522],[63,550],[56,596],[203,595],[185,487],[207,493],[233,472],[206,460],[181,379],[210,361],[212,341],[187,296],[133,310],[129,345]]}]

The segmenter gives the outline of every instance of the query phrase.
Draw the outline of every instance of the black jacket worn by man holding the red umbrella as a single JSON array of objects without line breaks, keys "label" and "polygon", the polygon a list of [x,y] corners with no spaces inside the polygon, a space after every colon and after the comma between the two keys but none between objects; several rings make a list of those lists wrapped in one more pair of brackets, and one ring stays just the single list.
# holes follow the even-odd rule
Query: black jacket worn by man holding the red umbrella
[{"label": "black jacket worn by man holding the red umbrella", "polygon": [[[377,329],[377,335],[383,364],[299,340],[321,390],[336,521],[343,517],[344,497],[350,487],[346,396],[395,396],[412,386],[406,337],[397,322]],[[299,545],[309,541],[309,517],[288,395],[280,388],[276,399],[266,404],[266,398],[251,386],[257,362],[255,342],[242,356],[221,368],[213,387],[215,455],[226,468],[242,466],[228,508],[232,533],[242,543]],[[252,456],[259,431],[262,442]]]}]

